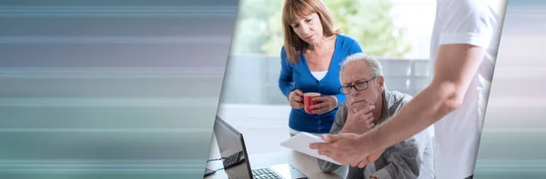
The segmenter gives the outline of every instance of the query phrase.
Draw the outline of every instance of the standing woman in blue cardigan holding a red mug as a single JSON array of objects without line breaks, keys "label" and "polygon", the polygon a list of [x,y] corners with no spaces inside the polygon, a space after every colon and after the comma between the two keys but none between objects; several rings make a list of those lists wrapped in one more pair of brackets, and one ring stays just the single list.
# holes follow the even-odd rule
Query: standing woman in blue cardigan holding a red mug
[{"label": "standing woman in blue cardigan holding a red mug", "polygon": [[[321,0],[286,0],[282,12],[284,46],[281,49],[280,91],[288,97],[292,110],[290,134],[328,134],[339,104],[346,100],[339,92],[339,63],[361,53],[357,41],[333,28],[329,10]],[[307,113],[303,94],[321,96]]]}]

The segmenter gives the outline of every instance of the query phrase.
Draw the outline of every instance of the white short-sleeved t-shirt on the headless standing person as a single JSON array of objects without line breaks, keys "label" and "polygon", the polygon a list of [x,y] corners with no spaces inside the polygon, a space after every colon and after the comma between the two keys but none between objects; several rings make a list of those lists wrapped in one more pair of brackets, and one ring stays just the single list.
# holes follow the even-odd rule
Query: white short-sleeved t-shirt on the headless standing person
[{"label": "white short-sleeved t-shirt on the headless standing person", "polygon": [[[496,18],[484,1],[438,0],[430,42],[431,66],[434,66],[440,45],[490,47],[491,40],[498,40],[493,38],[493,30],[498,25]],[[460,108],[434,124],[436,178],[462,179],[474,173],[483,123],[478,114],[479,83],[478,75],[475,75]]]}]

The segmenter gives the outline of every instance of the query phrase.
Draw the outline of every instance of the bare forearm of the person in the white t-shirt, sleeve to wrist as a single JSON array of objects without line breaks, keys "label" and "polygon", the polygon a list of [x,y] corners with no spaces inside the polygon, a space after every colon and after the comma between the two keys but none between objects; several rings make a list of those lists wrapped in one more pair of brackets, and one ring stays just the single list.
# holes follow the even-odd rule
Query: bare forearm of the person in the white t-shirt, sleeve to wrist
[{"label": "bare forearm of the person in the white t-shirt, sleeve to wrist", "polygon": [[361,146],[362,150],[371,152],[396,144],[459,108],[484,55],[485,49],[479,46],[441,45],[430,85],[387,122],[360,135],[361,145],[369,143]]}]

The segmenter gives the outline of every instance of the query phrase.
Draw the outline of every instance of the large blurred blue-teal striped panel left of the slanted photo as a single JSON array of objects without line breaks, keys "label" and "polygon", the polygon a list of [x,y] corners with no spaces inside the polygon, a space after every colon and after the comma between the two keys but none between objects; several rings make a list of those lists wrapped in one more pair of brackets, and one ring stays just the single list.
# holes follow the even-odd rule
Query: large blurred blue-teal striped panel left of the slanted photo
[{"label": "large blurred blue-teal striped panel left of the slanted photo", "polygon": [[0,1],[0,178],[202,178],[237,8]]}]

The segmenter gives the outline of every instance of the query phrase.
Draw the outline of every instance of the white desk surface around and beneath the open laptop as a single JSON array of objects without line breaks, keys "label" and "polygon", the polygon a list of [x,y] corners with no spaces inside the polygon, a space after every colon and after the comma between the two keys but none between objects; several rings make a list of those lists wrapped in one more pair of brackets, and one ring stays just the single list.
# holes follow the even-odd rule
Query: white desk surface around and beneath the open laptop
[{"label": "white desk surface around and beneath the open laptop", "polygon": [[[213,139],[213,146],[211,147],[211,158],[219,158],[218,149],[216,146],[216,138]],[[253,169],[260,167],[268,167],[275,164],[292,164],[301,173],[306,174],[309,179],[340,179],[344,178],[347,174],[348,167],[341,167],[332,174],[326,174],[320,171],[317,163],[317,158],[309,156],[307,154],[301,154],[292,150],[283,150],[268,154],[252,154],[249,155],[250,167]],[[207,167],[211,169],[218,169],[222,167],[221,161],[213,161],[207,164]],[[239,164],[233,167],[246,167],[245,164]],[[205,179],[227,179],[227,174],[223,171],[217,171],[216,174],[211,174],[205,177]]]}]

